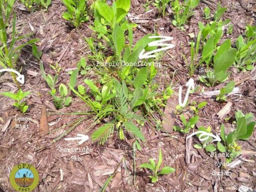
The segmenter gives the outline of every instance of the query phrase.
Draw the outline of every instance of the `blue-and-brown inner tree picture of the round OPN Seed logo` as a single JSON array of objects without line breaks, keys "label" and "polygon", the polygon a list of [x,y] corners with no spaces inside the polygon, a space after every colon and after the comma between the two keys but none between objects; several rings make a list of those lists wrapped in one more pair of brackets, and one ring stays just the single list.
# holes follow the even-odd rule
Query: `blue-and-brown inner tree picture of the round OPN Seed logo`
[{"label": "blue-and-brown inner tree picture of the round OPN Seed logo", "polygon": [[34,181],[34,175],[27,168],[19,169],[15,174],[15,182],[20,187],[29,187]]}]

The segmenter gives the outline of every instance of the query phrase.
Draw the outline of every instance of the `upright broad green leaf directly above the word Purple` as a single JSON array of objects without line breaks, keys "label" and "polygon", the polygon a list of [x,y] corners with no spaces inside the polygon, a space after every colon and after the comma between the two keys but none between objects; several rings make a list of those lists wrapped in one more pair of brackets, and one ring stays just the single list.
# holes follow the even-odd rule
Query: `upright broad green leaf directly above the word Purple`
[{"label": "upright broad green leaf directly above the word Purple", "polygon": [[122,49],[124,48],[125,37],[124,37],[124,32],[122,31],[119,24],[115,25],[115,28],[113,31],[113,43],[116,50],[116,54],[120,56]]}]

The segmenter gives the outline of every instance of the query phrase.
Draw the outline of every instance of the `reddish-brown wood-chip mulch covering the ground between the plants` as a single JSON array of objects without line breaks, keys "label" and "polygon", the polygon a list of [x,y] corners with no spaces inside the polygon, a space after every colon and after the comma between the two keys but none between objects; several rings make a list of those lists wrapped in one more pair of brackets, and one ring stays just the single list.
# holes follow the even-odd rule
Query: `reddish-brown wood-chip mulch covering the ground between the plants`
[{"label": "reddish-brown wood-chip mulch covering the ground between the plants", "polygon": [[[189,77],[186,75],[187,68],[184,66],[182,54],[189,57],[190,47],[188,43],[193,40],[189,33],[198,33],[198,21],[206,22],[203,18],[203,10],[209,6],[215,10],[217,2],[202,0],[195,10],[195,15],[184,27],[186,31],[176,29],[171,25],[172,14],[165,18],[158,18],[155,7],[149,5],[145,12],[145,0],[140,2],[132,0],[132,8],[129,19],[139,24],[134,30],[134,39],[139,39],[146,34],[157,32],[163,36],[172,36],[175,48],[169,50],[162,59],[162,67],[158,69],[158,84],[171,84],[175,93],[178,93],[179,85],[184,85]],[[255,24],[255,2],[222,0],[222,6],[228,7],[224,14],[225,18],[231,18],[233,24],[232,42],[244,34],[246,24]],[[244,4],[245,3],[245,4]],[[250,6],[248,6],[250,5]],[[254,6],[254,7],[253,7]],[[83,36],[91,36],[89,25],[84,23],[79,28],[79,33],[70,27],[62,19],[65,11],[61,0],[53,0],[47,12],[25,12],[15,7],[17,12],[18,31],[22,34],[34,33],[33,38],[39,38],[38,47],[43,51],[42,61],[46,72],[52,73],[49,64],[59,63],[61,72],[59,83],[66,83],[69,79],[68,71],[76,67],[77,61],[89,54]],[[136,16],[137,20],[134,20]],[[13,192],[9,182],[11,169],[20,162],[34,165],[39,173],[39,184],[35,192],[98,192],[103,183],[121,162],[121,167],[116,171],[110,182],[107,192],[236,192],[242,185],[250,189],[256,189],[256,132],[247,142],[239,142],[242,145],[244,155],[240,156],[242,162],[231,168],[230,176],[212,175],[213,170],[221,171],[214,166],[215,162],[221,162],[221,158],[212,158],[203,150],[197,150],[193,144],[198,142],[196,138],[187,141],[185,136],[178,132],[167,134],[153,129],[149,123],[145,123],[142,132],[146,137],[146,143],[142,144],[142,150],[136,152],[136,171],[134,173],[133,139],[124,142],[112,137],[108,143],[100,148],[96,142],[86,141],[79,148],[85,147],[92,152],[69,153],[61,152],[61,148],[76,148],[75,142],[66,142],[61,138],[53,142],[59,135],[67,131],[67,124],[84,116],[58,115],[52,99],[48,94],[49,88],[41,77],[39,63],[31,56],[31,48],[24,48],[18,66],[22,67],[25,74],[24,91],[31,91],[27,99],[30,106],[28,113],[22,115],[12,107],[12,101],[6,97],[0,97],[0,127],[9,125],[7,129],[0,132],[0,188],[3,192]],[[231,69],[231,80],[234,80],[240,88],[240,94],[229,96],[227,102],[232,102],[231,112],[227,117],[231,120],[225,121],[228,131],[234,128],[232,120],[237,110],[243,113],[252,112],[256,115],[256,69],[250,72],[237,72]],[[93,74],[92,74],[93,75]],[[250,77],[250,78],[248,78]],[[194,77],[196,85],[204,86]],[[82,78],[81,78],[82,80]],[[202,87],[206,91],[219,89],[224,84],[214,88]],[[0,91],[16,91],[17,87],[12,83],[10,74],[3,74],[0,81]],[[185,92],[185,91],[184,91]],[[178,95],[171,97],[171,103],[177,103]],[[198,93],[190,96],[190,101],[207,101],[207,106],[199,112],[199,125],[211,125],[213,132],[219,132],[220,120],[217,113],[227,102],[218,103],[213,98],[203,98]],[[50,133],[41,136],[39,134],[39,123],[42,109],[46,106]],[[87,111],[87,107],[78,98],[73,97],[72,105],[59,110],[63,113]],[[184,115],[191,117],[192,112],[187,109]],[[15,119],[19,117],[31,117],[31,121],[20,122],[29,127],[16,128],[18,124]],[[78,125],[67,137],[75,137],[77,133],[91,135],[98,126],[92,124],[92,118],[86,116],[85,120]],[[176,118],[175,124],[181,121]],[[1,131],[1,130],[0,130]],[[158,160],[158,150],[162,149],[163,164],[171,166],[176,171],[167,176],[160,177],[157,183],[150,183],[147,170],[138,166],[148,161],[148,158]],[[81,161],[73,161],[72,156],[81,157]],[[238,160],[238,159],[236,159]],[[61,180],[61,170],[63,180]],[[135,183],[134,183],[134,174]],[[1,191],[1,190],[0,190]]]}]

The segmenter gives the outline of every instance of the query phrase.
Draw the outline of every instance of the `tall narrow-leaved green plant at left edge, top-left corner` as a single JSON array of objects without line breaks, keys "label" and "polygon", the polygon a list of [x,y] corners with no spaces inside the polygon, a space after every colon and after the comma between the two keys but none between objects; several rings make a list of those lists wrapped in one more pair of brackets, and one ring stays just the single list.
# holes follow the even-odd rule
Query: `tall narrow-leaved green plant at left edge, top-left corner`
[{"label": "tall narrow-leaved green plant at left edge, top-left corner", "polygon": [[[13,15],[13,22],[12,22],[12,32],[10,36],[7,35],[7,25],[8,25],[8,19],[12,12],[12,6],[14,4],[14,0],[9,1],[0,1],[0,65],[3,68],[11,68],[15,69],[16,61],[19,58],[21,49],[24,48],[27,45],[34,44],[39,39],[32,39],[29,40],[27,43],[22,43],[17,46],[17,42],[20,40],[31,36],[30,35],[24,35],[24,36],[18,36],[15,37],[16,34],[16,15]],[[6,7],[5,7],[6,6]],[[5,17],[5,19],[4,19]],[[11,37],[11,38],[8,38]],[[19,86],[19,84],[16,81],[15,74],[12,73],[13,81]]]}]

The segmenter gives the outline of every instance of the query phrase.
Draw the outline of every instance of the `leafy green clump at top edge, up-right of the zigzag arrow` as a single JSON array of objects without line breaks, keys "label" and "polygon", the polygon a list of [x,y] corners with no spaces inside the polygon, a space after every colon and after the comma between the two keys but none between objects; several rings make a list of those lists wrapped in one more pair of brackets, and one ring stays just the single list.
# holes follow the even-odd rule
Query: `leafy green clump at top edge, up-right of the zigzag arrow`
[{"label": "leafy green clump at top edge, up-right of the zigzag arrow", "polygon": [[179,0],[171,2],[172,10],[174,11],[174,20],[172,24],[183,29],[183,25],[193,15],[193,10],[199,4],[199,0],[184,0],[180,3]]}]

